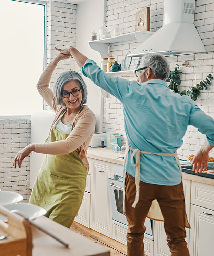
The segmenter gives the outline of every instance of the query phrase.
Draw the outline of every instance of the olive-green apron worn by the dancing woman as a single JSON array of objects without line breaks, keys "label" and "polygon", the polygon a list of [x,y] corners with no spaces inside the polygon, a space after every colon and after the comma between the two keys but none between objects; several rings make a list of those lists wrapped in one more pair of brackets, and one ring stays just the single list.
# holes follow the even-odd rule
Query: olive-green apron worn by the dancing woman
[{"label": "olive-green apron worn by the dancing woman", "polygon": [[[56,121],[45,143],[68,137],[56,127],[64,113]],[[29,203],[43,207],[47,210],[46,217],[70,228],[82,203],[87,174],[75,150],[66,155],[46,154]]]}]

